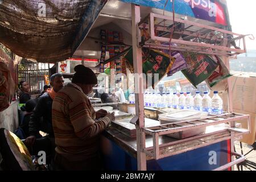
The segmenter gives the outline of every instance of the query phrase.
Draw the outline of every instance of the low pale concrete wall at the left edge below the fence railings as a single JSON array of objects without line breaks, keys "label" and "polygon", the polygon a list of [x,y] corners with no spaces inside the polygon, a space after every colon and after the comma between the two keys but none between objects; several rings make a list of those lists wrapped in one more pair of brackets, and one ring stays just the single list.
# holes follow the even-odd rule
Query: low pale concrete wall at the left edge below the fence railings
[{"label": "low pale concrete wall at the left edge below the fence railings", "polygon": [[19,126],[18,121],[18,101],[14,101],[6,109],[0,112],[0,128],[5,128],[14,132],[14,130]]}]

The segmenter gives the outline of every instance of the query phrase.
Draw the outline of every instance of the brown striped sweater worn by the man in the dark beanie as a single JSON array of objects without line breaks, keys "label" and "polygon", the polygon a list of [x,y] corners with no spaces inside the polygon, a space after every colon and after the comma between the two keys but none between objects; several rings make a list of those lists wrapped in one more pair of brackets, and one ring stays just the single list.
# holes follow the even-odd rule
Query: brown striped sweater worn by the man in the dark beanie
[{"label": "brown striped sweater worn by the man in the dark beanie", "polygon": [[52,125],[56,153],[69,162],[86,161],[99,150],[99,134],[108,127],[109,115],[95,121],[96,112],[80,86],[69,83],[55,96]]}]

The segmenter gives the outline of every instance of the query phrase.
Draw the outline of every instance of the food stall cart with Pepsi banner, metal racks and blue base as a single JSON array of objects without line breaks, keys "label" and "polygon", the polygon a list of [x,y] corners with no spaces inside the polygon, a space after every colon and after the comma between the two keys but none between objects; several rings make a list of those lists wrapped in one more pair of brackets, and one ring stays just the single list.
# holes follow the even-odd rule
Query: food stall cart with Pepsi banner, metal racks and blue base
[{"label": "food stall cart with Pepsi banner, metal racks and blue base", "polygon": [[[142,48],[218,55],[222,56],[226,64],[229,56],[246,52],[245,35],[229,31],[225,1],[209,1],[207,5],[182,0],[168,1],[164,6],[165,3],[166,1],[108,1],[91,32],[97,32],[100,26],[111,30],[126,30],[123,31],[125,44],[132,44],[134,73],[139,74],[143,73]],[[141,35],[142,30],[147,30],[146,39]],[[174,34],[180,36],[172,36]],[[89,36],[85,38],[85,43],[86,39],[96,38]],[[131,39],[132,42],[127,39]],[[97,40],[100,42],[100,39]],[[242,49],[234,43],[237,40],[243,42]],[[82,43],[75,56],[86,56],[81,55],[83,51],[88,51],[88,46]],[[97,50],[95,53],[100,59],[100,51]],[[139,79],[135,79],[135,85],[141,85]],[[137,86],[138,88],[140,87]],[[221,115],[161,124],[159,121],[144,117],[143,93],[135,92],[135,117],[116,119],[102,137],[105,168],[230,169],[245,160],[244,156],[234,152],[234,141],[239,140],[250,130],[249,127],[237,127],[237,121],[247,122],[249,126],[250,118],[249,115],[232,113],[231,102],[232,98],[229,99],[229,111]],[[191,137],[168,137],[202,129],[203,133]]]}]

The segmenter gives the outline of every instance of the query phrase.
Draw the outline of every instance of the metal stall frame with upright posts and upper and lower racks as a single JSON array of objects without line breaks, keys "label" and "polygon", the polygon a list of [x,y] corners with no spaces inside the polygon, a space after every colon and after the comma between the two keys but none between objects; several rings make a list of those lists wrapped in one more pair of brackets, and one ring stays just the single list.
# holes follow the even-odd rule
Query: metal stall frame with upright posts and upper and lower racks
[{"label": "metal stall frame with upright posts and upper and lower racks", "polygon": [[[155,27],[154,27],[154,18],[162,18],[166,20],[172,20],[170,17],[163,16],[163,15],[156,15],[151,13],[148,18],[148,23],[146,26],[143,24],[143,22],[140,21],[141,19],[141,12],[140,12],[140,6],[131,4],[131,10],[132,10],[132,36],[133,36],[133,61],[134,61],[134,72],[138,73],[138,75],[142,74],[142,47],[150,47],[150,48],[164,48],[169,49],[165,46],[159,45],[159,42],[170,42],[170,38],[161,38],[158,36],[155,36]],[[223,46],[216,46],[216,45],[210,45],[207,43],[195,43],[185,40],[178,40],[178,39],[172,39],[172,42],[178,44],[177,47],[171,47],[172,49],[185,50],[185,51],[192,51],[192,52],[199,52],[199,53],[209,53],[212,55],[220,55],[224,56],[226,60],[228,60],[228,56],[237,55],[240,53],[246,52],[246,45],[245,45],[245,35],[241,34],[235,34],[230,31],[221,30],[220,28],[216,27],[210,27],[205,26],[203,24],[189,22],[186,20],[180,20],[175,19],[175,22],[180,23],[187,23],[190,24],[190,26],[197,26],[201,28],[208,28],[210,31],[215,32],[221,32],[223,34],[223,38],[221,41],[221,44]],[[150,29],[151,39],[147,40],[143,45],[141,44],[141,34],[140,34],[140,27],[148,27]],[[170,32],[170,29],[166,28],[164,30],[163,27],[156,27],[160,28],[159,30]],[[203,36],[198,35],[196,32],[183,32],[184,34],[187,34],[188,36]],[[237,36],[234,39],[228,40],[226,38],[226,35],[232,35]],[[212,39],[208,35],[204,35],[205,39]],[[230,46],[227,46],[228,43],[234,41],[234,40],[243,40],[243,49],[237,49],[237,48],[230,48]],[[158,43],[155,43],[158,42]],[[220,52],[220,53],[218,53]],[[228,67],[229,68],[229,67]],[[143,80],[142,80],[143,81]],[[141,88],[140,80],[135,79],[135,85],[137,88]],[[228,85],[230,85],[230,80],[228,80]],[[136,87],[135,87],[136,88]],[[221,166],[214,170],[224,170],[227,168],[230,168],[234,166],[235,164],[241,163],[243,160],[245,160],[245,157],[243,155],[237,154],[234,152],[234,141],[241,139],[243,134],[250,133],[250,116],[249,115],[242,115],[242,114],[236,114],[236,113],[225,113],[222,115],[212,116],[204,119],[197,120],[199,122],[203,122],[201,124],[195,124],[193,122],[195,121],[187,121],[190,122],[189,126],[181,126],[181,127],[174,127],[171,128],[170,125],[174,125],[177,123],[172,123],[170,125],[160,125],[158,127],[153,128],[145,128],[144,127],[144,98],[143,93],[140,93],[139,90],[136,90],[135,92],[135,117],[131,120],[131,123],[134,123],[137,129],[137,165],[139,171],[145,171],[147,169],[146,166],[146,155],[151,156],[154,159],[161,159],[165,158],[167,156],[180,154],[182,152],[194,150],[196,148],[209,146],[210,144],[221,142],[223,140],[231,140],[231,162],[228,164],[225,164],[224,166]],[[232,100],[230,99],[230,89],[228,90],[229,93],[229,111],[232,111]],[[240,121],[241,119],[247,120],[247,129],[239,129],[236,127],[236,121]],[[207,121],[208,120],[208,121]],[[181,123],[181,122],[179,122]],[[203,135],[197,135],[196,137],[191,137],[187,139],[181,139],[176,142],[166,143],[166,144],[159,144],[159,136],[160,135],[168,135],[171,133],[177,133],[182,131],[187,131],[191,129],[200,129],[202,127],[206,126],[212,126],[212,125],[218,125],[221,123],[229,123],[229,127],[226,129],[216,131],[209,134],[203,134]],[[146,148],[145,147],[145,134],[150,134],[153,137],[153,147]],[[186,142],[193,143],[197,141],[200,141],[196,146],[187,147]],[[162,148],[168,148],[171,146],[174,146],[175,144],[184,144],[184,148],[177,151],[171,151],[167,152],[167,154],[161,154]],[[240,158],[234,160],[234,156],[239,156]]]}]

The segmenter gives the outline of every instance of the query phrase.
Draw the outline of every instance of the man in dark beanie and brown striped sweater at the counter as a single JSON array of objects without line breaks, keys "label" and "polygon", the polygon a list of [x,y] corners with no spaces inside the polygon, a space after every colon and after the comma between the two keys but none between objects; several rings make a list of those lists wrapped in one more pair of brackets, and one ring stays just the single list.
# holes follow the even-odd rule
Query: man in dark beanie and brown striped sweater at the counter
[{"label": "man in dark beanie and brown striped sweater at the counter", "polygon": [[102,109],[96,112],[86,96],[97,84],[92,69],[77,65],[75,72],[72,83],[56,94],[52,104],[55,169],[97,170],[101,169],[100,134],[114,119],[114,113]]}]

